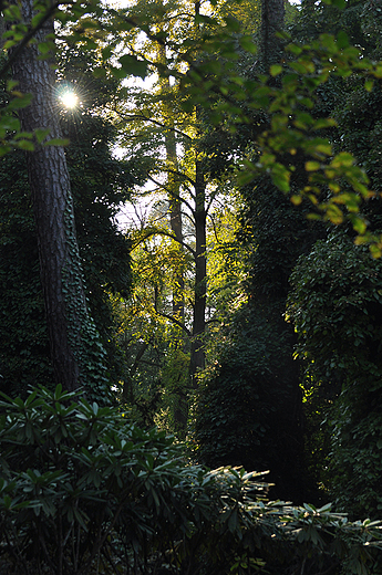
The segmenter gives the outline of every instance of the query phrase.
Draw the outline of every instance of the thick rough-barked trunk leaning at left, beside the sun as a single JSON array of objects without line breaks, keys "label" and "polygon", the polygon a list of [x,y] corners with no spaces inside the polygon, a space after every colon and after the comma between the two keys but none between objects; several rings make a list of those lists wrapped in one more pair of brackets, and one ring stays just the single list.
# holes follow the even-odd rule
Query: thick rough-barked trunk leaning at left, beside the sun
[{"label": "thick rough-barked trunk leaning at left, beside the sun", "polygon": [[[21,10],[30,23],[33,0],[21,0]],[[48,21],[37,41],[43,42],[53,33],[53,22]],[[22,129],[49,128],[49,138],[60,138],[54,69],[51,61],[39,59],[38,43],[23,50],[12,72],[19,90],[33,96],[31,105],[20,111]],[[73,390],[86,383],[81,365],[87,363],[94,327],[86,310],[64,149],[37,143],[34,151],[27,153],[27,165],[54,378],[64,389]]]}]

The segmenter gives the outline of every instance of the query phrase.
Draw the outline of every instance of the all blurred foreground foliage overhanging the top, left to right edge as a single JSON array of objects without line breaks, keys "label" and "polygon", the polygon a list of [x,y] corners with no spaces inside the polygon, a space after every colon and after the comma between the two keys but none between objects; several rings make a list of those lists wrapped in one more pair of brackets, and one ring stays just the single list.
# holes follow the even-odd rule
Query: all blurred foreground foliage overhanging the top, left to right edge
[{"label": "all blurred foreground foliage overhanging the top, left to right edge", "polygon": [[[344,8],[344,2],[333,1],[331,11],[337,17],[338,8]],[[52,14],[43,3],[39,3],[39,14],[33,25],[39,24],[42,18]],[[320,7],[321,8],[321,7]],[[169,10],[173,10],[171,7]],[[18,20],[18,9],[14,13],[9,8],[7,18]],[[48,10],[48,11],[47,11]],[[166,66],[157,63],[156,67],[165,75],[171,74],[182,81],[186,101],[183,107],[190,112],[195,105],[209,109],[210,118],[218,124],[227,122],[231,129],[238,123],[250,122],[246,109],[262,109],[272,115],[270,128],[262,132],[258,138],[259,154],[255,160],[244,158],[244,180],[248,181],[252,174],[267,171],[276,186],[285,192],[293,191],[293,199],[300,202],[307,197],[323,219],[333,223],[340,223],[349,219],[360,238],[364,237],[366,223],[359,213],[359,205],[369,198],[371,191],[364,170],[357,165],[355,158],[349,151],[333,153],[330,140],[320,137],[320,133],[335,124],[332,117],[316,117],[311,113],[319,93],[333,76],[349,77],[360,76],[365,80],[365,88],[371,90],[373,77],[380,79],[382,67],[380,62],[369,60],[360,49],[349,42],[347,33],[341,29],[335,35],[322,33],[310,43],[298,44],[286,40],[286,58],[283,64],[275,63],[270,67],[269,75],[258,71],[252,77],[244,77],[238,73],[235,63],[239,59],[239,52],[256,53],[256,45],[247,33],[241,33],[240,24],[231,15],[211,18],[210,15],[194,14],[195,29],[198,33],[186,42],[180,42],[168,29],[158,31],[158,18],[171,21],[165,8],[156,7],[154,15],[152,11],[145,13],[131,13],[128,10],[116,11],[107,9],[107,18],[97,2],[91,2],[86,8],[76,3],[65,6],[65,10],[58,11],[58,19],[70,24],[72,42],[82,42],[87,48],[94,48],[95,42],[90,30],[100,30],[101,42],[105,38],[105,31],[114,32],[113,41],[103,49],[104,58],[110,58],[113,52],[118,58],[118,66],[111,65],[110,70],[118,77],[128,74],[145,76],[149,62],[145,55],[136,53],[118,54],[121,32],[133,30],[144,32],[149,42],[166,45],[172,54]],[[223,11],[224,12],[224,11]],[[90,17],[92,14],[92,17]],[[215,14],[216,15],[216,14]],[[341,19],[337,18],[339,28]],[[345,22],[345,18],[342,19]],[[370,38],[375,38],[371,30],[368,8],[365,8],[364,27]],[[369,24],[368,24],[369,22]],[[369,27],[369,28],[368,28]],[[171,27],[172,28],[172,27]],[[335,27],[334,27],[335,28]],[[370,30],[369,30],[370,29]],[[118,30],[118,34],[115,31]],[[85,35],[83,32],[86,31]],[[13,23],[7,32],[7,48],[24,41],[25,34],[31,31],[20,23]],[[29,36],[31,38],[31,36]],[[49,44],[49,43],[48,43]],[[42,45],[41,50],[49,49]],[[219,53],[220,58],[216,59]],[[203,59],[197,55],[204,54]],[[155,67],[155,66],[154,66]],[[184,70],[188,71],[185,73]],[[97,73],[106,74],[106,70],[100,66]],[[99,74],[99,75],[100,75]],[[279,81],[273,82],[273,79]],[[242,104],[246,103],[246,106]],[[306,184],[293,189],[295,159],[302,154],[306,157]],[[331,190],[329,197],[322,199],[322,189]],[[372,241],[374,253],[380,254],[378,237],[366,236],[366,241]]]}]

